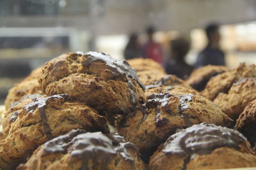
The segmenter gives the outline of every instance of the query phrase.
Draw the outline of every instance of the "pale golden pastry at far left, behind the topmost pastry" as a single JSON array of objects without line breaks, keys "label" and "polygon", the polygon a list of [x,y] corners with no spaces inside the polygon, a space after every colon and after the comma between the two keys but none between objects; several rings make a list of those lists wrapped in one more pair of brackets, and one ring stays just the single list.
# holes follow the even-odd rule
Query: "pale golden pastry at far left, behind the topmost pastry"
[{"label": "pale golden pastry at far left, behind the topmost pastry", "polygon": [[4,101],[6,110],[12,107],[12,104],[19,101],[24,96],[31,94],[43,94],[38,85],[38,77],[42,74],[42,67],[32,71],[23,81],[17,83],[8,91],[8,96]]}]

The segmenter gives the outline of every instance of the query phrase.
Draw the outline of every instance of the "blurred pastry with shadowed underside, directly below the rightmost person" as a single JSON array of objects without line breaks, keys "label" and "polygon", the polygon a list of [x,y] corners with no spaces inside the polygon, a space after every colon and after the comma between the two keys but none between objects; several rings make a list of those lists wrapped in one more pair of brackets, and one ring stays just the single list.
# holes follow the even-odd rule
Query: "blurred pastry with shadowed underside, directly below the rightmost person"
[{"label": "blurred pastry with shadowed underside, directly below the rightmost person", "polygon": [[207,82],[213,77],[220,73],[228,71],[228,67],[225,66],[214,66],[207,65],[195,69],[186,80],[186,84],[193,87],[198,91],[202,91],[205,88]]}]

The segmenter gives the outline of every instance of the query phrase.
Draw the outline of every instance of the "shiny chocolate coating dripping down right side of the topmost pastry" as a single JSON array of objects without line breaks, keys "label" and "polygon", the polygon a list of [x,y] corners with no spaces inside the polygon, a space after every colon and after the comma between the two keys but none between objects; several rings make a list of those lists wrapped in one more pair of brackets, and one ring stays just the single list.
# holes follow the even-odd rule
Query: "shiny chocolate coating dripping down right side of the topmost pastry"
[{"label": "shiny chocolate coating dripping down right side of the topmost pastry", "polygon": [[132,69],[127,61],[123,60],[121,62],[110,57],[110,55],[106,55],[105,53],[100,52],[77,52],[77,54],[86,56],[86,60],[82,62],[82,65],[85,67],[90,66],[93,62],[103,62],[104,64],[106,64],[106,66],[108,66],[109,70],[115,77],[125,76],[125,80],[127,81],[130,89],[131,104],[135,104],[135,92],[132,79],[136,80],[136,82],[138,83],[138,85],[140,85],[142,89],[145,89],[145,87],[138,79],[136,71]]}]

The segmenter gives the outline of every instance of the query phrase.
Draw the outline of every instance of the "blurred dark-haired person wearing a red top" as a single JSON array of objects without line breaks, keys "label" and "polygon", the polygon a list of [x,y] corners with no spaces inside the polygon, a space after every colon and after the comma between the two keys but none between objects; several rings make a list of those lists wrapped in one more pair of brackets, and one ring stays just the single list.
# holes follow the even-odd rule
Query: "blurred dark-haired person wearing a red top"
[{"label": "blurred dark-haired person wearing a red top", "polygon": [[142,47],[143,58],[153,59],[159,64],[163,65],[163,61],[164,61],[163,50],[161,48],[161,45],[159,45],[159,43],[156,43],[153,38],[153,35],[155,32],[154,27],[153,26],[147,27],[146,32],[148,35],[148,41]]}]

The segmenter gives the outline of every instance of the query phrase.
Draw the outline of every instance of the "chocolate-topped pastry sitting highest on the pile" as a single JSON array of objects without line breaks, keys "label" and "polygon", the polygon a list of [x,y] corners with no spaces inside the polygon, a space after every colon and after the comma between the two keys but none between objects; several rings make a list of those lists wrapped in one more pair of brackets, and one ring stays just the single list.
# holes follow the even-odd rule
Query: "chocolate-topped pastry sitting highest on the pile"
[{"label": "chocolate-topped pastry sitting highest on the pile", "polygon": [[68,94],[108,113],[127,113],[144,100],[136,71],[100,52],[63,53],[45,64],[38,82],[48,96]]}]

